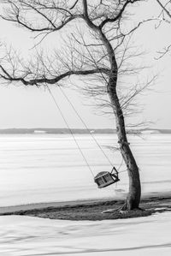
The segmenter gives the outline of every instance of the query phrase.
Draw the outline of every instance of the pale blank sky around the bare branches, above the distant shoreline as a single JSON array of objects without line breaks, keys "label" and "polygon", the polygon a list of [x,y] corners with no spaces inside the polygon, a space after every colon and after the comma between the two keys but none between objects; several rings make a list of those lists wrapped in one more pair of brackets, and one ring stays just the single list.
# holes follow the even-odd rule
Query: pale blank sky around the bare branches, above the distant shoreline
[{"label": "pale blank sky around the bare branches, above the distant shoreline", "polygon": [[[147,9],[151,13],[158,11],[155,2],[151,2],[148,8],[145,6],[144,9],[139,9],[139,16],[144,16],[145,19]],[[154,60],[154,57],[157,56],[156,51],[171,42],[170,31],[171,24],[162,25],[155,30],[154,23],[150,23],[141,27],[136,37],[136,45],[149,53],[148,57],[144,57],[144,62],[149,60],[150,66],[154,65],[154,68],[148,70],[147,78],[151,73],[159,73],[154,86],[155,91],[148,91],[144,98],[139,98],[139,103],[144,104],[144,111],[140,117],[155,122],[152,125],[153,128],[171,128],[169,115],[171,110],[171,55],[163,57],[158,62]],[[26,30],[15,27],[14,24],[7,21],[0,20],[0,35],[2,41],[12,44],[16,49],[20,48],[21,52],[26,53],[27,49],[32,47],[31,35]],[[55,86],[52,92],[56,100],[60,102],[69,125],[72,128],[84,128]],[[66,92],[89,128],[113,128],[113,116],[95,115],[94,108],[88,106],[91,102],[87,98],[74,91],[67,90]],[[36,87],[0,86],[0,119],[0,128],[65,127],[50,94],[43,88]],[[132,118],[132,122],[137,122],[137,120],[139,118],[136,120]]]}]

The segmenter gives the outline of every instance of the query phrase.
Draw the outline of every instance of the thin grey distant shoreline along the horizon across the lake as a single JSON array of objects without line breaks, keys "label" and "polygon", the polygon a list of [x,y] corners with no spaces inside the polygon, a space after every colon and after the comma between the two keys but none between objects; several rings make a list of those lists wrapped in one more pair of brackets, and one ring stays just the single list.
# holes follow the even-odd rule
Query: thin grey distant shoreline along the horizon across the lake
[{"label": "thin grey distant shoreline along the horizon across the lake", "polygon": [[[71,134],[68,128],[3,128],[0,134]],[[72,134],[116,134],[112,128],[72,128]],[[171,134],[171,129],[129,129],[127,134]]]}]

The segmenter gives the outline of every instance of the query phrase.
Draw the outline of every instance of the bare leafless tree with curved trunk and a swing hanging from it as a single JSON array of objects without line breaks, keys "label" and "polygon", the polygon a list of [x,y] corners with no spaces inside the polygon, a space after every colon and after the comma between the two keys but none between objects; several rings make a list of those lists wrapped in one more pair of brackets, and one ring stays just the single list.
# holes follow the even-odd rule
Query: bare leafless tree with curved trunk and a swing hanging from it
[{"label": "bare leafless tree with curved trunk and a swing hanging from it", "polygon": [[[91,95],[107,95],[107,104],[115,115],[119,148],[129,176],[129,192],[123,209],[139,209],[139,167],[127,140],[124,115],[127,104],[131,104],[144,86],[129,87],[123,95],[118,84],[122,74],[139,72],[139,68],[136,70],[127,63],[128,57],[139,53],[127,53],[126,50],[127,38],[141,22],[129,29],[125,25],[128,19],[126,10],[140,0],[4,2],[1,17],[35,33],[37,45],[35,56],[29,61],[24,61],[12,50],[6,51],[0,62],[1,79],[7,83],[21,82],[24,86],[61,86],[70,77],[79,76],[88,80],[89,85],[85,89]],[[61,49],[53,51],[53,54],[37,50],[43,39],[57,32],[63,37]]]}]

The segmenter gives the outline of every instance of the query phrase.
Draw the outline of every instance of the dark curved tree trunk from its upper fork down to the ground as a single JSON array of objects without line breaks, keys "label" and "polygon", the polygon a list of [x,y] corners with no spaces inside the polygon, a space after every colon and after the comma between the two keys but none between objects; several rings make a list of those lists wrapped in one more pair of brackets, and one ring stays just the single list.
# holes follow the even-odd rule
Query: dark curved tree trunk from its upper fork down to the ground
[{"label": "dark curved tree trunk from its upper fork down to the ground", "polygon": [[99,33],[100,39],[106,47],[106,51],[109,56],[109,63],[111,65],[111,70],[109,72],[108,93],[115,114],[116,133],[119,139],[118,142],[120,144],[121,155],[125,161],[125,164],[127,165],[127,172],[129,176],[129,192],[127,194],[126,204],[124,205],[123,209],[130,211],[133,209],[139,209],[139,202],[141,197],[139,167],[136,164],[135,158],[133,158],[133,153],[127,141],[124,116],[116,92],[118,67],[115,59],[115,51],[110,44],[109,39],[107,39],[104,35],[103,31],[100,30]]}]

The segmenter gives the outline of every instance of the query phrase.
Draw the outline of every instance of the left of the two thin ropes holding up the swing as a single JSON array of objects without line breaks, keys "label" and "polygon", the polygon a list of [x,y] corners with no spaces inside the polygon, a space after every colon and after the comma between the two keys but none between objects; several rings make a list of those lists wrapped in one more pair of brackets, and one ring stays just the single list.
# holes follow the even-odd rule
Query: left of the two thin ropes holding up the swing
[{"label": "left of the two thin ropes holding up the swing", "polygon": [[85,155],[84,155],[84,153],[82,152],[82,150],[81,150],[81,148],[80,148],[79,143],[78,143],[77,140],[75,139],[75,136],[74,136],[74,133],[73,133],[72,129],[71,129],[71,128],[69,127],[69,125],[68,125],[68,122],[67,122],[65,116],[63,116],[62,110],[60,109],[59,105],[58,105],[57,102],[56,102],[56,98],[53,96],[52,92],[50,91],[50,87],[49,87],[47,84],[46,84],[46,87],[47,87],[48,91],[50,92],[50,96],[51,96],[51,98],[53,99],[54,103],[56,104],[57,110],[60,112],[63,121],[65,122],[66,126],[68,127],[68,130],[69,130],[70,134],[72,135],[72,137],[73,137],[73,139],[74,139],[74,142],[75,142],[76,146],[78,147],[82,158],[85,160],[85,164],[87,165],[88,169],[91,171],[91,175],[92,175],[93,178],[94,178],[94,174],[93,174],[93,172],[92,172],[92,170],[91,170],[91,166],[90,166],[90,164],[88,164],[88,162],[87,162],[87,160],[86,160],[86,158],[85,158]]}]

